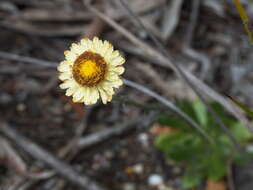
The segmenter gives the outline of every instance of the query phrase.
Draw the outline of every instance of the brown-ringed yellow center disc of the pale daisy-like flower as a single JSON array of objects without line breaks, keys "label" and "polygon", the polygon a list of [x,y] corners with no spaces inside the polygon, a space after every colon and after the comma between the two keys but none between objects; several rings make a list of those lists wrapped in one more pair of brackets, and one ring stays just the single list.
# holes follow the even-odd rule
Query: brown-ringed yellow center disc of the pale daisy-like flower
[{"label": "brown-ringed yellow center disc of the pale daisy-like flower", "polygon": [[104,79],[106,66],[101,55],[86,51],[75,60],[73,77],[80,85],[93,87]]}]

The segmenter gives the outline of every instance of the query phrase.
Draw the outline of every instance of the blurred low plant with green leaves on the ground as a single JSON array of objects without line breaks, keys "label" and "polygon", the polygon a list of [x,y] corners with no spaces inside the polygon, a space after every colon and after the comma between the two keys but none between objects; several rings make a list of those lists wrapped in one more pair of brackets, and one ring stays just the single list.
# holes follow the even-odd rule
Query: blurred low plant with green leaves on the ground
[{"label": "blurred low plant with green leaves on the ground", "polygon": [[[235,150],[229,138],[217,126],[200,101],[181,102],[178,106],[198,122],[215,143],[207,143],[197,131],[176,116],[164,114],[159,117],[158,122],[175,129],[176,132],[161,134],[156,138],[155,145],[169,159],[185,166],[182,182],[186,189],[198,186],[204,178],[211,180],[223,178],[227,172],[228,161],[241,161],[244,156]],[[211,103],[211,106],[238,142],[246,144],[252,139],[248,129],[227,115],[219,104]]]}]

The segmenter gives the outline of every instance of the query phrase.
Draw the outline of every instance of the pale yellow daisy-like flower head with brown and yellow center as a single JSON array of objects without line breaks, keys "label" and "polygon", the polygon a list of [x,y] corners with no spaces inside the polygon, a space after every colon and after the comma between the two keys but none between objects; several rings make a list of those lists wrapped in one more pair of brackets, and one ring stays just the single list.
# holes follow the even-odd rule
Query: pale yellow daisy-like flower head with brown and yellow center
[{"label": "pale yellow daisy-like flower head with brown and yellow center", "polygon": [[65,51],[65,60],[58,66],[60,88],[66,89],[66,96],[74,102],[85,105],[95,104],[99,97],[106,104],[112,100],[114,88],[123,82],[120,75],[124,72],[125,59],[114,50],[108,41],[82,39],[73,43]]}]

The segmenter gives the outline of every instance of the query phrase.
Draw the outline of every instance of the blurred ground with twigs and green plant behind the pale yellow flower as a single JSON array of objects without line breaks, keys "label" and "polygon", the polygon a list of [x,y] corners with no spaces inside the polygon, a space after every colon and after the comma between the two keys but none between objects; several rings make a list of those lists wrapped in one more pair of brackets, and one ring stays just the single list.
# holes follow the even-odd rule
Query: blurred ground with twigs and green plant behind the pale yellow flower
[{"label": "blurred ground with twigs and green plant behind the pale yellow flower", "polygon": [[[253,189],[251,119],[226,98],[253,105],[252,44],[235,1],[124,2],[0,1],[0,189]],[[252,1],[240,2],[252,18]],[[120,50],[123,77],[139,86],[84,106],[60,90],[56,66],[94,36]],[[227,131],[170,62],[195,76]]]}]

